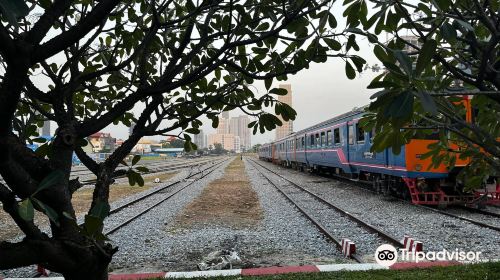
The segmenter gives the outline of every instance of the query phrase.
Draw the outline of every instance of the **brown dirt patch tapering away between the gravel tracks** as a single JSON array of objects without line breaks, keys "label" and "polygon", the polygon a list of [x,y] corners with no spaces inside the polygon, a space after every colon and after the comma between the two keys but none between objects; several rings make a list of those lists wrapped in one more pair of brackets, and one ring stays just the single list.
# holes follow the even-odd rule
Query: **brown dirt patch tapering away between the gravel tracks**
[{"label": "brown dirt patch tapering away between the gravel tracks", "polygon": [[194,201],[177,216],[173,228],[194,228],[217,224],[231,228],[248,228],[263,219],[257,193],[252,189],[245,164],[235,158],[224,176],[211,182]]}]

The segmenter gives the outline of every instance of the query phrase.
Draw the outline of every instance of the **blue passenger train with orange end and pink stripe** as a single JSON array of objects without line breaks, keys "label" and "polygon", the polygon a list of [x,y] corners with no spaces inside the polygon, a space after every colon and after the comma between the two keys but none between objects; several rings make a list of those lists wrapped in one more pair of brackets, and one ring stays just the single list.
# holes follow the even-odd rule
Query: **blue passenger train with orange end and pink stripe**
[{"label": "blue passenger train with orange end and pink stripe", "polygon": [[[468,107],[470,110],[470,106]],[[376,192],[391,194],[419,205],[446,207],[452,204],[500,205],[500,183],[490,178],[481,190],[465,192],[456,180],[467,160],[457,157],[455,168],[431,166],[421,158],[436,139],[412,139],[395,154],[390,148],[372,152],[374,131],[364,131],[359,120],[365,107],[264,144],[261,160],[309,172],[329,173],[368,183]],[[468,116],[467,118],[470,118]]]}]

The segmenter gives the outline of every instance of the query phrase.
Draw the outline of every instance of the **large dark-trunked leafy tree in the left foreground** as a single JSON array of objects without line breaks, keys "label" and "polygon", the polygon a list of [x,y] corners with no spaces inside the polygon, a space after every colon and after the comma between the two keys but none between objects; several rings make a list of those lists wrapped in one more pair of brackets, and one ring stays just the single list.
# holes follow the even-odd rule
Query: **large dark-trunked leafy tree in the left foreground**
[{"label": "large dark-trunked leafy tree in the left foreground", "polygon": [[[201,116],[217,127],[222,111],[241,108],[257,117],[254,133],[272,130],[295,111],[278,102],[273,80],[347,55],[343,33],[330,13],[333,0],[303,1],[91,1],[0,0],[0,201],[26,238],[0,243],[0,269],[43,264],[66,279],[106,279],[117,248],[105,241],[109,186],[127,174],[143,182],[144,169],[117,170],[139,139],[199,132]],[[27,4],[28,5],[27,5]],[[333,49],[333,51],[330,51]],[[263,80],[256,96],[249,87]],[[138,116],[132,109],[141,108]],[[57,123],[55,138],[32,152],[43,120]],[[111,124],[131,126],[130,136],[104,162],[82,149],[83,139]],[[97,177],[80,228],[70,179],[71,159]],[[133,163],[137,163],[135,157]],[[17,199],[21,199],[20,202]],[[40,231],[34,211],[50,218]],[[36,252],[36,253],[35,253]]]}]

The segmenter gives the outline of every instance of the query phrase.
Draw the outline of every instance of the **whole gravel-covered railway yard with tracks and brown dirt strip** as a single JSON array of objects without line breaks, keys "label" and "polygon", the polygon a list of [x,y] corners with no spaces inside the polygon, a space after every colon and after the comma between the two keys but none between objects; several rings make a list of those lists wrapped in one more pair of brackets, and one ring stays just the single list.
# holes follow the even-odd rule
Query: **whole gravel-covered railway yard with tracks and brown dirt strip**
[{"label": "whole gravel-covered railway yard with tracks and brown dirt strip", "polygon": [[[401,248],[405,235],[422,242],[423,251],[459,249],[481,252],[482,260],[500,258],[500,209],[492,206],[482,211],[415,206],[357,182],[255,156],[142,164],[151,172],[144,189],[117,194],[105,223],[106,235],[119,247],[110,265],[116,273],[196,270],[218,250],[237,252],[241,261],[233,267],[238,268],[373,263],[378,246]],[[81,168],[72,176],[93,179]],[[158,177],[162,182],[153,183]],[[126,178],[114,187],[122,184]],[[0,219],[0,240],[21,238],[7,231],[5,216]],[[342,253],[343,238],[356,244],[350,257]],[[28,277],[34,271],[28,267],[0,276]]]}]

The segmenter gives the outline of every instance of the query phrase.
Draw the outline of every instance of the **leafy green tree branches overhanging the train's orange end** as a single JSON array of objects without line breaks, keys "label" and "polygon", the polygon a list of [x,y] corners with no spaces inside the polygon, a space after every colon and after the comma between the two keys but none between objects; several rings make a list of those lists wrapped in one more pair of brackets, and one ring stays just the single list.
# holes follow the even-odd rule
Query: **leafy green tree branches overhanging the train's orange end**
[{"label": "leafy green tree branches overhanging the train's orange end", "polygon": [[[385,71],[368,88],[371,98],[365,129],[375,129],[372,149],[401,145],[438,131],[429,146],[434,166],[453,168],[470,160],[459,178],[479,187],[500,174],[500,1],[347,0],[344,16],[351,45],[361,35]],[[372,8],[369,8],[372,5]],[[377,35],[388,34],[388,41]],[[411,34],[411,36],[403,36]],[[347,71],[349,75],[350,71]],[[351,75],[352,77],[352,75]],[[462,95],[470,101],[472,122]],[[450,139],[451,141],[448,141]]]}]

